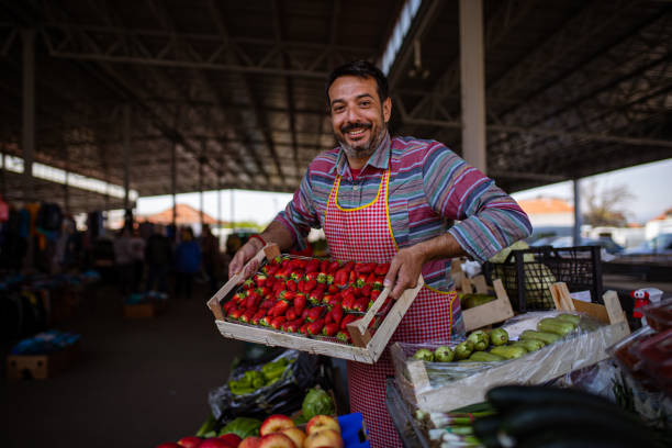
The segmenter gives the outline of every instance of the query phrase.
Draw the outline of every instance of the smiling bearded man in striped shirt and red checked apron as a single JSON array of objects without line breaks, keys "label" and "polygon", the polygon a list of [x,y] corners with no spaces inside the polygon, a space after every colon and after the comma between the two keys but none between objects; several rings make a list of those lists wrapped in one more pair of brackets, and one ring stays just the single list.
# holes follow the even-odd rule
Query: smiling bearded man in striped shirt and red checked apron
[{"label": "smiling bearded man in striped shirt and red checked apron", "polygon": [[[327,80],[327,105],[339,146],[317,156],[287,209],[233,258],[236,273],[264,243],[301,244],[310,227],[325,232],[331,256],[391,261],[390,295],[422,288],[392,340],[422,343],[464,335],[450,283],[450,258],[485,260],[531,227],[518,204],[438,142],[391,138],[392,101],[372,64],[338,67]],[[450,226],[451,221],[459,223]],[[256,270],[250,266],[246,276]],[[348,363],[351,412],[361,412],[373,447],[401,446],[384,405],[388,351],[373,365]]]}]

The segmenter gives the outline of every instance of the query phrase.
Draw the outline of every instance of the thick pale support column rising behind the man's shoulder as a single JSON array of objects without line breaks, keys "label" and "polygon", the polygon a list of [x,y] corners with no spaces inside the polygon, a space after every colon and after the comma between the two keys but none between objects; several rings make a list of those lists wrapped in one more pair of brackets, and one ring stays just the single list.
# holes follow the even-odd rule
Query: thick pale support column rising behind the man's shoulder
[{"label": "thick pale support column rising behind the man's shoulder", "polygon": [[460,0],[462,157],[486,173],[483,2]]}]

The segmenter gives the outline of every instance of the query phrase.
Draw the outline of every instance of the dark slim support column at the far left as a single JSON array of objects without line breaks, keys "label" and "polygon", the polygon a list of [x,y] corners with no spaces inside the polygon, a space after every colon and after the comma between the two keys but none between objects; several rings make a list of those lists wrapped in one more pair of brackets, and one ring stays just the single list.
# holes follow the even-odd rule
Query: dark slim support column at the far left
[{"label": "dark slim support column at the far left", "polygon": [[27,202],[35,200],[33,155],[35,153],[35,30],[22,30],[23,40],[23,188]]}]

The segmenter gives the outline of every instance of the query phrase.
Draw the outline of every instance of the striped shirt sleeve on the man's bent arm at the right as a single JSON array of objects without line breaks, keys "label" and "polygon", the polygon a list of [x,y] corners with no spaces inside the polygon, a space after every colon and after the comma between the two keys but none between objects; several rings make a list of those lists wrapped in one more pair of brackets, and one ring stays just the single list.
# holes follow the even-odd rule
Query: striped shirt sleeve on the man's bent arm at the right
[{"label": "striped shirt sleeve on the man's bent arm at the right", "polygon": [[426,153],[423,184],[432,209],[457,221],[448,233],[479,261],[531,234],[518,203],[441,144]]}]

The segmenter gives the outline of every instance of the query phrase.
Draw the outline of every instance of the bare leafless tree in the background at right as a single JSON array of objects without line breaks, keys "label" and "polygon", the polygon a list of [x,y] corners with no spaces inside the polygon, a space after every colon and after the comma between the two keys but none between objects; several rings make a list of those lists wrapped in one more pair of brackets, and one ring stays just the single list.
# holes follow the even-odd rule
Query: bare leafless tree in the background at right
[{"label": "bare leafless tree in the background at right", "polygon": [[628,201],[636,199],[627,186],[600,188],[594,179],[586,181],[581,187],[581,197],[585,206],[582,213],[584,224],[616,227],[625,226],[628,223],[630,213],[624,208],[627,208]]}]

